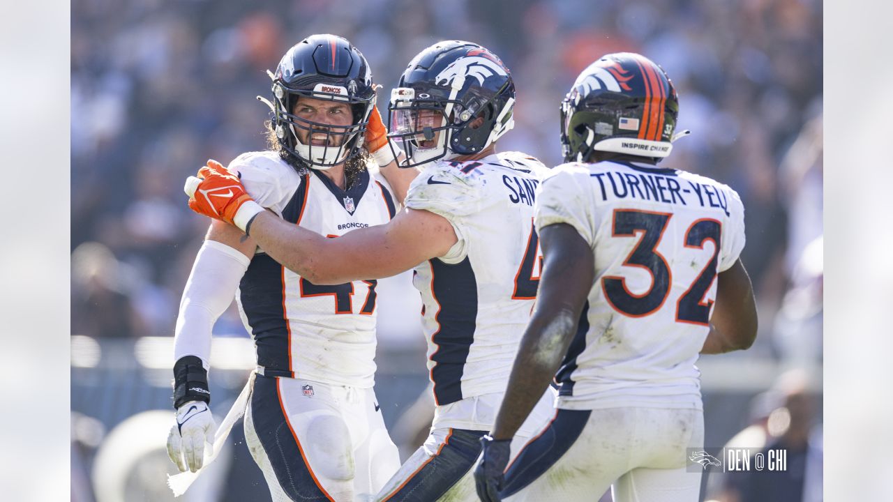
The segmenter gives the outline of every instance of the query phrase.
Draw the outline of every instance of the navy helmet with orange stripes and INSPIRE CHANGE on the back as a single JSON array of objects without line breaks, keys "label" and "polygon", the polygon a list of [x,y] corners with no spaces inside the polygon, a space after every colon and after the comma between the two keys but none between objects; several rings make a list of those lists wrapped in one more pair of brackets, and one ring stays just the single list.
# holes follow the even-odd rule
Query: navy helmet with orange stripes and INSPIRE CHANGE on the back
[{"label": "navy helmet with orange stripes and INSPIRE CHANGE on the back", "polygon": [[641,54],[605,54],[562,101],[564,162],[586,162],[596,150],[660,160],[672,151],[678,115],[663,68]]}]

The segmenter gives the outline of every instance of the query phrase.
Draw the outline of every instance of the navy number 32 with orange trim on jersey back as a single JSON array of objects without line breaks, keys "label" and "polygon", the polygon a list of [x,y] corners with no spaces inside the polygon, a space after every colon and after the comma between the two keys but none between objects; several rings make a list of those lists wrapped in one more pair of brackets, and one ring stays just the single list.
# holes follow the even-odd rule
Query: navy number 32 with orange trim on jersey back
[{"label": "navy number 32 with orange trim on jersey back", "polygon": [[[636,295],[626,287],[626,280],[619,276],[602,278],[602,289],[608,303],[614,310],[630,317],[644,317],[653,314],[663,306],[670,295],[672,270],[666,259],[656,247],[663,238],[671,213],[652,213],[636,210],[614,210],[613,237],[636,237],[638,245],[633,248],[623,265],[639,267],[651,274],[651,288],[645,293]],[[691,283],[689,289],[682,293],[676,304],[676,322],[707,325],[710,321],[710,308],[713,300],[704,301],[707,290],[716,278],[717,255],[720,250],[722,224],[713,219],[701,219],[693,222],[684,235],[685,247],[703,249],[707,240],[714,241],[714,254],[705,267]]]}]

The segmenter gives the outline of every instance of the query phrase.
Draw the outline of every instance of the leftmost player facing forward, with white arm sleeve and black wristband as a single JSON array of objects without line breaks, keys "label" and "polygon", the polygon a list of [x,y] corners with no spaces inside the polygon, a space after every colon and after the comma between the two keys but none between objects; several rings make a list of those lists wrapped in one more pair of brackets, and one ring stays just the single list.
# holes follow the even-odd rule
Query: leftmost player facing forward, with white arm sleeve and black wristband
[{"label": "leftmost player facing forward, with white arm sleeve and black wristband", "polygon": [[[291,47],[272,79],[271,150],[239,155],[230,170],[267,213],[335,238],[394,217],[397,170],[375,108],[369,64],[346,39],[313,35]],[[231,188],[203,190],[221,199]],[[183,293],[175,333],[168,449],[180,471],[203,464],[213,437],[207,403],[211,328],[233,295],[255,341],[257,371],[246,441],[273,500],[369,499],[399,467],[373,390],[376,281],[338,283],[295,273],[236,227],[213,222]]]}]

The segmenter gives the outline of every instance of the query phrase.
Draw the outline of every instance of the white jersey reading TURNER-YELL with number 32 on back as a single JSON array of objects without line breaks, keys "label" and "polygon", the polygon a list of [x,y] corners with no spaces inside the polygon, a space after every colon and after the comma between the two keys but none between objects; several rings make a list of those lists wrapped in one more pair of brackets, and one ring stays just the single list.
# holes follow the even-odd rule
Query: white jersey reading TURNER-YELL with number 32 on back
[{"label": "white jersey reading TURNER-YELL with number 32 on back", "polygon": [[558,407],[701,407],[695,363],[716,274],[744,247],[744,206],[722,183],[638,163],[566,163],[537,196],[537,229],[575,228],[596,280],[555,381]]}]

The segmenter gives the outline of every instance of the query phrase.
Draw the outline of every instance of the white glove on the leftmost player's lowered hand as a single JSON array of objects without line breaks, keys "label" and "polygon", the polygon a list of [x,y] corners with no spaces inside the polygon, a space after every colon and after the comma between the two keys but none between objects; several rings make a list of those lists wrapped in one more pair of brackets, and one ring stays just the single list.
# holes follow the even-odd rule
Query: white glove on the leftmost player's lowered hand
[{"label": "white glove on the leftmost player's lowered hand", "polygon": [[180,406],[176,420],[168,434],[168,456],[177,464],[180,473],[185,473],[187,469],[195,473],[204,464],[205,441],[208,443],[208,455],[213,454],[217,424],[204,401],[188,401]]}]

